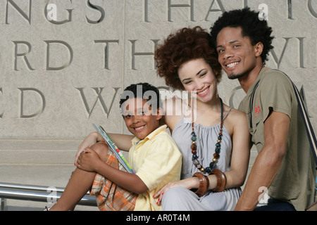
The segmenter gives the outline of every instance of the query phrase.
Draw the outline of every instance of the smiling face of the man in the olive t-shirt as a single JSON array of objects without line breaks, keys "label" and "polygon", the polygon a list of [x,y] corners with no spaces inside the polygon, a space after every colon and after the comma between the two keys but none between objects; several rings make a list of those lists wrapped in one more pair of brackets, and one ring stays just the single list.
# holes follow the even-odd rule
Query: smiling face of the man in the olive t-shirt
[{"label": "smiling face of the man in the olive t-shirt", "polygon": [[[225,27],[217,36],[218,61],[230,79],[249,74],[261,60],[249,37],[242,36],[241,27]],[[260,58],[260,59],[259,59]]]}]

